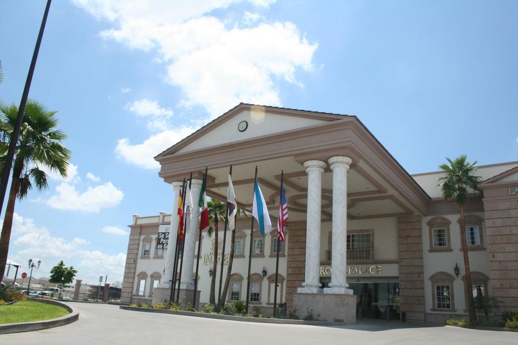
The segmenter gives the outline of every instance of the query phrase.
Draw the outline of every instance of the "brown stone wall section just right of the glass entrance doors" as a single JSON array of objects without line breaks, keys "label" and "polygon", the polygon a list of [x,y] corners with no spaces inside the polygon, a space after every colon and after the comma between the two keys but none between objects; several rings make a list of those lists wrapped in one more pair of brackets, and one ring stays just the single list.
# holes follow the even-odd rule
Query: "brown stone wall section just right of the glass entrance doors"
[{"label": "brown stone wall section just right of the glass entrance doors", "polygon": [[399,296],[406,321],[424,322],[423,231],[421,216],[397,218]]}]

